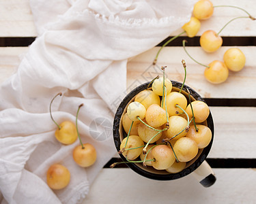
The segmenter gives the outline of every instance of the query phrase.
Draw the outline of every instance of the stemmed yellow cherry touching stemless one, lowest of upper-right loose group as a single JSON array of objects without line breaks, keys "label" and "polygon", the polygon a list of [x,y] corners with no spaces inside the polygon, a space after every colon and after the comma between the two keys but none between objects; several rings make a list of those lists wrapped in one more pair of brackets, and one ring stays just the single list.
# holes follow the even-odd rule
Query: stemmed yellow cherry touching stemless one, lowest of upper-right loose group
[{"label": "stemmed yellow cherry touching stemless one, lowest of upper-right loose group", "polygon": [[208,82],[212,84],[221,84],[227,80],[229,69],[227,69],[225,63],[221,61],[212,61],[208,67],[206,67],[204,71],[204,76]]}]

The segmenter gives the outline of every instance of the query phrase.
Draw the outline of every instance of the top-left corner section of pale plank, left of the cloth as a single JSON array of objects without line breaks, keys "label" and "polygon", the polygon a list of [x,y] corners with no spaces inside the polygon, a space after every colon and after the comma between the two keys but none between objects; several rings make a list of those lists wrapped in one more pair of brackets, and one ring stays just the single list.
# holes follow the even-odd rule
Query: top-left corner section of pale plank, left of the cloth
[{"label": "top-left corner section of pale plank, left of the cloth", "polygon": [[29,0],[0,0],[0,37],[35,37]]}]

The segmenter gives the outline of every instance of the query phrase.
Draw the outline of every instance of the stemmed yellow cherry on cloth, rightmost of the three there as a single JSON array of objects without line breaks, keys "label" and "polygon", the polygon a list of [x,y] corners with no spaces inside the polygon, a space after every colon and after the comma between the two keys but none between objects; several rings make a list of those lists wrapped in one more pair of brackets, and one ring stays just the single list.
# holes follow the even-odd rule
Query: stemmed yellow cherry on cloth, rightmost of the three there
[{"label": "stemmed yellow cherry on cloth, rightmost of the three there", "polygon": [[96,162],[97,152],[90,143],[83,143],[83,147],[79,145],[74,148],[73,158],[77,165],[89,167]]}]

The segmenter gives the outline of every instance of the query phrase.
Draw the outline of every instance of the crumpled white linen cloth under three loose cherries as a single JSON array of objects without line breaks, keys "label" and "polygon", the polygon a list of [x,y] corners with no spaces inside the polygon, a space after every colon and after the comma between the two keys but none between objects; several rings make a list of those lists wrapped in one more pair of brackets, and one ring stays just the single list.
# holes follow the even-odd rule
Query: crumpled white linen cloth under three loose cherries
[{"label": "crumpled white linen cloth under three loose cherries", "polygon": [[[111,103],[126,90],[127,59],[148,50],[188,22],[195,1],[31,0],[38,37],[17,72],[0,88],[1,203],[77,203],[115,154]],[[54,136],[53,118],[75,122],[91,143],[96,163],[74,163],[75,143]],[[112,111],[112,112],[111,112]],[[46,171],[53,163],[71,173],[63,190],[51,190]],[[107,186],[106,186],[107,188]],[[99,192],[100,194],[100,192]]]}]

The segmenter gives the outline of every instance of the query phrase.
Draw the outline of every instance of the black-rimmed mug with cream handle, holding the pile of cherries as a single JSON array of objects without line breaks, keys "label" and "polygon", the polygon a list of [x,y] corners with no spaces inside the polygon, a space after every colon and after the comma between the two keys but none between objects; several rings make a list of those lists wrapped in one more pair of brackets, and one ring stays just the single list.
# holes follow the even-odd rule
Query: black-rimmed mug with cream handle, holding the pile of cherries
[{"label": "black-rimmed mug with cream handle, holding the pile of cherries", "polygon": [[[115,147],[117,148],[117,152],[120,150],[122,139],[124,139],[124,137],[127,136],[126,132],[122,127],[122,117],[126,113],[128,104],[134,101],[134,97],[139,92],[147,89],[149,84],[150,82],[146,82],[145,84],[141,84],[137,88],[134,88],[134,90],[132,90],[128,95],[126,95],[122,103],[120,103],[119,107],[117,108],[117,112],[115,113],[113,123],[113,137],[115,141]],[[182,87],[182,83],[180,82],[172,81],[172,84],[173,90],[176,91],[179,91],[180,88]],[[184,85],[182,89],[182,94],[184,94],[187,99],[188,92],[186,91],[186,89],[190,91],[191,101],[204,101],[203,98],[195,90]],[[127,163],[128,167],[130,167],[130,169],[139,173],[140,175],[143,175],[144,177],[148,177],[154,180],[175,180],[180,177],[184,177],[185,175],[188,175],[190,173],[193,173],[195,178],[199,180],[200,184],[202,184],[205,187],[212,186],[212,184],[214,184],[214,182],[216,181],[216,177],[210,165],[208,165],[208,163],[205,161],[206,156],[208,156],[210,152],[212,142],[214,139],[214,122],[212,120],[211,112],[204,123],[212,131],[212,139],[209,145],[203,149],[200,149],[197,156],[195,156],[193,160],[190,160],[186,164],[185,169],[180,171],[179,173],[168,173],[165,170],[156,170],[153,167],[143,167],[141,163]],[[119,156],[121,156],[122,160],[126,161],[126,158],[122,154],[119,154]]]}]

